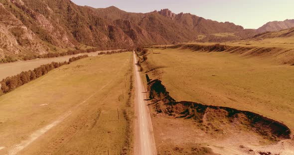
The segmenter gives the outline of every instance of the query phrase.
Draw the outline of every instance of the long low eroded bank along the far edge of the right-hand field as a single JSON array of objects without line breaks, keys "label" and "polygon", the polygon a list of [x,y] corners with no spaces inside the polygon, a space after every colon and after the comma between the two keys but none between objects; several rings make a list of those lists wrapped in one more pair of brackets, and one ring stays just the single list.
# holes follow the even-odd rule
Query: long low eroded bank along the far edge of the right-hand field
[{"label": "long low eroded bank along the far edge of the right-hand field", "polygon": [[166,47],[150,48],[171,48],[171,49],[189,49],[193,52],[229,52],[243,56],[262,56],[272,58],[280,64],[294,65],[294,48],[282,47],[255,47],[255,46],[230,46],[224,44],[201,45],[201,44],[177,44]]}]

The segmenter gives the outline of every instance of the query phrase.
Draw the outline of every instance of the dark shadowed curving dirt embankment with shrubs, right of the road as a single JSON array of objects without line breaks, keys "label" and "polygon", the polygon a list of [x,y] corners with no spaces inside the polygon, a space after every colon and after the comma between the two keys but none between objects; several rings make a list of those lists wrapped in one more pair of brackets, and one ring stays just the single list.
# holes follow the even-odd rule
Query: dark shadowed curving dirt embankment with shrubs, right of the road
[{"label": "dark shadowed curving dirt embankment with shrubs, right of the road", "polygon": [[224,126],[220,124],[235,124],[244,130],[255,131],[271,141],[290,139],[291,131],[286,125],[250,111],[175,101],[158,79],[148,82],[148,91],[156,112],[175,118],[193,119],[206,132],[224,132]]}]

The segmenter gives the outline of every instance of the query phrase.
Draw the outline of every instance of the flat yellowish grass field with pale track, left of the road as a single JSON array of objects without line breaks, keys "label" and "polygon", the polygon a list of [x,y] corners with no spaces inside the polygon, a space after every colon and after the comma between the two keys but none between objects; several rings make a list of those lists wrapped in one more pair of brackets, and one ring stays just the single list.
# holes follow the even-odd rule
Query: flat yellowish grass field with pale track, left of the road
[{"label": "flat yellowish grass field with pale track, left of the road", "polygon": [[128,153],[132,62],[131,52],[85,58],[0,96],[0,155]]}]

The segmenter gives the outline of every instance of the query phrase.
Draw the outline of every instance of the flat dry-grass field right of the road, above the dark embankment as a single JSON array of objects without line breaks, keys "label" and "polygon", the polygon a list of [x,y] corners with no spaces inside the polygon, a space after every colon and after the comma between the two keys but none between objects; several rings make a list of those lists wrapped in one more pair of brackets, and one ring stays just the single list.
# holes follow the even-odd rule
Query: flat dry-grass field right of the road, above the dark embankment
[{"label": "flat dry-grass field right of the road, above the dark embankment", "polygon": [[252,111],[294,130],[293,66],[222,52],[152,50],[160,54],[149,54],[147,61],[159,68],[175,100]]}]

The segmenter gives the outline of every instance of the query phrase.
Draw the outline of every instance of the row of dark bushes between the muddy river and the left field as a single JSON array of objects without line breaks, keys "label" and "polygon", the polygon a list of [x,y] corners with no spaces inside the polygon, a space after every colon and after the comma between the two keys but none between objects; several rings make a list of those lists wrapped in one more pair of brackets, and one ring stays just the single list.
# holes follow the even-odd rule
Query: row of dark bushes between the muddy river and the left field
[{"label": "row of dark bushes between the muddy river and the left field", "polygon": [[47,74],[49,71],[56,69],[58,67],[61,67],[63,65],[70,64],[71,62],[77,61],[82,58],[87,58],[88,55],[78,56],[78,57],[72,57],[68,60],[68,62],[52,62],[51,64],[41,65],[40,67],[35,68],[34,70],[29,70],[26,72],[21,72],[20,74],[12,77],[4,78],[0,81],[0,95],[10,92],[13,89],[30,82],[31,80],[34,80],[36,78],[39,78],[45,74]]}]

